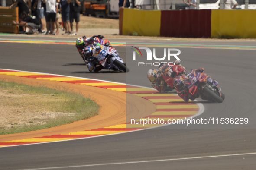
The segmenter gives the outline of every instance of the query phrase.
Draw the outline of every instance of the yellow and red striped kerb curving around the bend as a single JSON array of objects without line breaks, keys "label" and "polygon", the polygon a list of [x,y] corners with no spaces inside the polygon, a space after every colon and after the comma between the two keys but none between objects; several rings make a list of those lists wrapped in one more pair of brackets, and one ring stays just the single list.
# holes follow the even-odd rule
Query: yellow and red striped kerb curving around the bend
[{"label": "yellow and red striped kerb curving around the bend", "polygon": [[[35,72],[22,72],[14,70],[0,69],[0,74],[28,77],[34,79],[45,79],[57,82],[74,83],[80,85],[89,85],[98,88],[106,88],[109,90],[123,91],[129,94],[134,94],[146,100],[149,100],[156,105],[156,111],[149,116],[144,118],[159,118],[165,120],[168,119],[185,119],[194,116],[199,111],[198,104],[195,103],[185,103],[177,94],[159,94],[158,91],[151,88],[142,88],[137,86],[125,85],[116,82],[106,82],[94,79],[67,77],[51,74],[42,74]],[[129,125],[128,125],[129,124]],[[62,141],[68,139],[78,139],[86,137],[94,137],[100,135],[109,135],[122,132],[130,132],[139,129],[146,129],[153,126],[161,126],[162,124],[130,124],[129,122],[124,124],[118,124],[115,126],[109,126],[99,129],[91,129],[79,132],[67,132],[66,134],[55,134],[50,136],[42,136],[29,139],[19,139],[12,141],[0,141],[0,146],[10,146],[10,145],[24,145],[33,144],[41,142],[53,142]],[[128,128],[129,127],[129,128]]]}]

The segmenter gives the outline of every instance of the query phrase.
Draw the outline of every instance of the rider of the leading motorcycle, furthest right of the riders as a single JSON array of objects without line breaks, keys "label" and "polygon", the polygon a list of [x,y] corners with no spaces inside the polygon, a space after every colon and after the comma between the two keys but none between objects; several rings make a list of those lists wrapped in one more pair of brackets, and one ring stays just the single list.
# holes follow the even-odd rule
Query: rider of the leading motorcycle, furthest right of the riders
[{"label": "rider of the leading motorcycle, furthest right of the riders", "polygon": [[[198,72],[204,72],[204,68],[196,69]],[[173,86],[176,88],[177,94],[179,97],[181,97],[185,102],[188,102],[190,99],[191,101],[194,101],[195,98],[198,98],[197,94],[190,94],[188,91],[188,87],[186,85],[186,82],[190,82],[189,79],[189,73],[187,76],[176,76],[173,79]]]}]

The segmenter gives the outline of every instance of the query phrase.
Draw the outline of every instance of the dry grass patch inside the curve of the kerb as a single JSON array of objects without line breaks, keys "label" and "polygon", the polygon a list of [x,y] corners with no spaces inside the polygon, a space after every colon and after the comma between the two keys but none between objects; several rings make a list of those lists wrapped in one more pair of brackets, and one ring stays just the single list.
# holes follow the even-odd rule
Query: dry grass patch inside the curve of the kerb
[{"label": "dry grass patch inside the curve of the kerb", "polygon": [[99,106],[76,93],[0,81],[0,135],[83,120]]}]

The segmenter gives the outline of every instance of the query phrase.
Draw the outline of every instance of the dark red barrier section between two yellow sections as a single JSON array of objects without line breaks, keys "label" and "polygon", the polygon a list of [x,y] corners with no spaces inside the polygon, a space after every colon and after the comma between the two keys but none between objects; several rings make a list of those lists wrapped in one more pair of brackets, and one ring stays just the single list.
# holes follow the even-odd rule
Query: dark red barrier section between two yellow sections
[{"label": "dark red barrier section between two yellow sections", "polygon": [[162,11],[160,35],[211,38],[211,10]]}]

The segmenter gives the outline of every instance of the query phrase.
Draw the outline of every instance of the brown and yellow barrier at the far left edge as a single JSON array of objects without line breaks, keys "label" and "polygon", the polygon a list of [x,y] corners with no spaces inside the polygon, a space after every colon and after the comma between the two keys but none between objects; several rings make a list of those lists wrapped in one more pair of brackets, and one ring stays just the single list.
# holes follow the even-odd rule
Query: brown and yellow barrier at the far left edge
[{"label": "brown and yellow barrier at the far left edge", "polygon": [[19,33],[19,26],[13,25],[13,20],[19,22],[18,7],[0,7],[0,32]]}]

